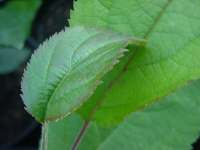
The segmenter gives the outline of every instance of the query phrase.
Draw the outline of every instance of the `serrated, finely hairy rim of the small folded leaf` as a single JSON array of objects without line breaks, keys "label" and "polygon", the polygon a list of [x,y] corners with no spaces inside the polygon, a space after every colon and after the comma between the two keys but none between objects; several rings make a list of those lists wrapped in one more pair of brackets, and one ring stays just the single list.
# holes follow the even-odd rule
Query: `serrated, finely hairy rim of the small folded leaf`
[{"label": "serrated, finely hairy rim of the small folded leaf", "polygon": [[[62,34],[62,33],[64,33],[64,32],[67,32],[68,29],[73,29],[73,28],[82,28],[82,29],[85,29],[85,30],[87,30],[87,29],[90,29],[90,30],[92,30],[92,29],[95,30],[95,29],[96,29],[96,30],[97,30],[97,29],[98,29],[99,31],[116,33],[116,32],[113,32],[113,31],[111,31],[111,30],[109,30],[109,29],[102,29],[102,28],[96,28],[96,27],[93,27],[93,28],[88,28],[88,27],[85,27],[85,26],[65,27],[62,31],[56,32],[54,35],[50,36],[50,37],[49,37],[48,39],[46,39],[42,44],[40,44],[39,47],[38,47],[38,48],[34,51],[34,53],[32,54],[30,60],[31,60],[33,57],[37,57],[37,56],[38,56],[38,54],[39,54],[39,51],[38,51],[38,50],[41,49],[42,47],[44,47],[45,45],[47,45],[47,43],[49,42],[49,40],[51,40],[52,38],[54,38],[54,37],[57,36],[58,34]],[[118,35],[124,35],[124,34],[118,33],[118,32],[117,32],[117,34],[118,34]],[[134,38],[134,37],[130,37],[129,40],[127,40],[127,42],[125,42],[124,48],[118,50],[118,51],[119,51],[119,55],[118,55],[117,57],[113,58],[113,63],[112,63],[110,66],[108,66],[108,68],[105,69],[105,70],[101,73],[101,75],[97,78],[96,82],[95,82],[94,85],[93,85],[93,88],[91,89],[91,92],[88,93],[87,96],[83,97],[82,99],[84,99],[84,100],[81,100],[81,103],[80,103],[79,105],[77,105],[76,107],[73,107],[72,110],[69,111],[68,113],[66,113],[66,114],[64,114],[64,115],[61,115],[61,116],[55,116],[54,118],[44,118],[44,120],[41,121],[41,120],[39,120],[38,118],[36,118],[36,117],[34,117],[34,116],[32,115],[32,113],[29,111],[29,109],[27,108],[27,106],[25,105],[25,103],[24,103],[24,101],[23,101],[23,103],[24,103],[24,105],[25,105],[25,110],[26,110],[29,114],[31,114],[31,116],[33,116],[33,117],[34,117],[37,121],[39,121],[40,123],[50,122],[50,121],[58,121],[58,120],[60,120],[60,119],[65,118],[66,116],[69,116],[72,112],[74,112],[74,111],[76,111],[78,108],[80,108],[80,107],[83,105],[83,103],[86,102],[87,99],[95,92],[96,88],[103,82],[103,81],[101,81],[101,78],[102,78],[107,72],[109,72],[111,69],[113,69],[113,67],[114,67],[117,63],[119,63],[119,61],[120,61],[119,59],[120,59],[121,57],[124,56],[124,53],[125,53],[125,52],[128,51],[128,49],[126,48],[128,45],[135,44],[135,45],[144,46],[145,43],[146,43],[146,40],[137,39],[137,38]],[[30,60],[29,60],[29,62],[27,63],[26,68],[24,69],[24,73],[30,68]],[[20,94],[20,96],[21,96],[22,99],[23,99],[23,90],[22,90],[22,89],[23,89],[24,82],[25,82],[25,81],[24,81],[24,75],[25,75],[25,74],[23,74],[23,76],[22,76],[22,81],[21,81],[22,88],[21,88],[21,94]],[[47,102],[47,103],[48,103],[48,102]]]}]

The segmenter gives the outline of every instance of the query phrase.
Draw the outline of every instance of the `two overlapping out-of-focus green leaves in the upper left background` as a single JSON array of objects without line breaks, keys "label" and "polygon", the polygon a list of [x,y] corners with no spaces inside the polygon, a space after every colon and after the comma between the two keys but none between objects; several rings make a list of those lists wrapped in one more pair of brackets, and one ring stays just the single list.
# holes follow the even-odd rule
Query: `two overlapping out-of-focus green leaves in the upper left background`
[{"label": "two overlapping out-of-focus green leaves in the upper left background", "polygon": [[40,0],[12,0],[0,7],[0,74],[10,73],[24,62],[23,49]]}]

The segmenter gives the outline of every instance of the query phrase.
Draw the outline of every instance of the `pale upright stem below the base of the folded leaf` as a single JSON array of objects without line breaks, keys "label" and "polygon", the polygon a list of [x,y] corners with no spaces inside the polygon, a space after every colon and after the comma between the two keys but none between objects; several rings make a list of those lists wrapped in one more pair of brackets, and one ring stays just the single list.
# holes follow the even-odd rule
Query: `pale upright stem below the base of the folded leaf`
[{"label": "pale upright stem below the base of the folded leaf", "polygon": [[41,150],[48,150],[48,122],[44,122],[42,126]]}]

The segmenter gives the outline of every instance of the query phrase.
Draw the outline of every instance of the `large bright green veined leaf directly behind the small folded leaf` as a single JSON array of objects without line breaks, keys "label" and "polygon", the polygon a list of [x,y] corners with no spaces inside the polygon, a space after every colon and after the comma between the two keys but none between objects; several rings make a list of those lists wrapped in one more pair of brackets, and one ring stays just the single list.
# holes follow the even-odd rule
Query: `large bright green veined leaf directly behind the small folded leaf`
[{"label": "large bright green veined leaf directly behind the small folded leaf", "polygon": [[200,77],[199,0],[79,0],[71,14],[71,26],[105,27],[148,41],[105,77],[80,110],[85,118],[92,114],[112,125]]}]

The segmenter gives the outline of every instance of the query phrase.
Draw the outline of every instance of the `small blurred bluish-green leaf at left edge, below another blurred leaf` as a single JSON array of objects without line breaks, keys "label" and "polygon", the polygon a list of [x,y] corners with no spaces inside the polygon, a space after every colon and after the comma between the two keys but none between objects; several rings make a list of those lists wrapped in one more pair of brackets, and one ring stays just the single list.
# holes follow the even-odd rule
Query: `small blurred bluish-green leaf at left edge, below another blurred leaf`
[{"label": "small blurred bluish-green leaf at left edge, below another blurred leaf", "polygon": [[29,54],[27,49],[18,50],[0,46],[0,74],[10,73],[17,69]]}]

